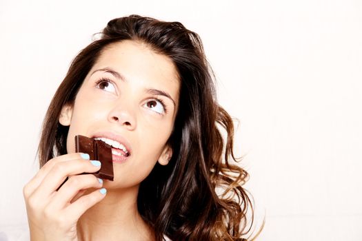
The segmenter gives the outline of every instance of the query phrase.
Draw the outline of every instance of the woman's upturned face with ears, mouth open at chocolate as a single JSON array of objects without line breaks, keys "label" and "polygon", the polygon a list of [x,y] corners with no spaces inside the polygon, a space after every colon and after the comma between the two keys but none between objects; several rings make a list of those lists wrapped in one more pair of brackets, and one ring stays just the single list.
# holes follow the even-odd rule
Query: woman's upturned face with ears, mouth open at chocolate
[{"label": "woman's upturned face with ears, mouth open at chocolate", "polygon": [[143,43],[122,41],[103,50],[59,122],[70,125],[68,153],[75,151],[76,135],[113,144],[114,182],[104,185],[132,187],[157,161],[168,164],[172,149],[166,143],[178,105],[179,77],[172,61]]}]

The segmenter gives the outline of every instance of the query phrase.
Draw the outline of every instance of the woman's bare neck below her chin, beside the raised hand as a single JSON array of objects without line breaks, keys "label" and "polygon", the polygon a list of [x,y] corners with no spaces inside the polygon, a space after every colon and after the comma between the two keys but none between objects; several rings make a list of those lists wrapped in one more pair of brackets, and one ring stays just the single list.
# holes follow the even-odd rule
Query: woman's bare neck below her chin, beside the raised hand
[{"label": "woman's bare neck below her chin, beside the raised hand", "polygon": [[153,240],[137,209],[138,187],[108,189],[77,223],[79,240]]}]

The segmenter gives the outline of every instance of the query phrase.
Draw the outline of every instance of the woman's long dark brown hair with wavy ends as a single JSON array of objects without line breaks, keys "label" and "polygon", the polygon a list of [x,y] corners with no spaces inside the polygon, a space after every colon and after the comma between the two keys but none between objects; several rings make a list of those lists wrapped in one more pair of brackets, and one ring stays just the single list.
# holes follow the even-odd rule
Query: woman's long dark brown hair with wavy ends
[{"label": "woman's long dark brown hair with wavy ends", "polygon": [[242,187],[248,173],[233,164],[237,158],[232,118],[217,103],[214,74],[199,35],[179,22],[139,15],[113,19],[101,37],[75,57],[43,123],[40,166],[67,152],[68,127],[58,122],[63,105],[74,103],[104,48],[126,39],[168,56],[181,83],[179,110],[168,140],[172,159],[165,166],[156,164],[141,182],[137,200],[141,216],[154,229],[156,240],[163,234],[172,240],[243,240],[250,232],[253,210]]}]

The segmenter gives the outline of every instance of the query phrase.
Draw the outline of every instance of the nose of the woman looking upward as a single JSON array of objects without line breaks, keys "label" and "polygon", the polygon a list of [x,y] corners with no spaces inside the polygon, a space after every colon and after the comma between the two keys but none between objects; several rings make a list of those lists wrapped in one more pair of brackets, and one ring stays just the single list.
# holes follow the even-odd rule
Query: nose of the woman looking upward
[{"label": "nose of the woman looking upward", "polygon": [[134,112],[132,112],[130,107],[127,107],[125,104],[114,107],[108,115],[108,121],[111,123],[117,123],[118,125],[124,126],[129,130],[135,129],[137,125]]}]

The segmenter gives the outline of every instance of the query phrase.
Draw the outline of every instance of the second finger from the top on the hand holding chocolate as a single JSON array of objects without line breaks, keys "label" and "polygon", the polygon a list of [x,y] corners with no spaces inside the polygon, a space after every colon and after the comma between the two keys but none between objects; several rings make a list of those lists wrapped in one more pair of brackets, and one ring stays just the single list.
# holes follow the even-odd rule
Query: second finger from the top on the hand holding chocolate
[{"label": "second finger from the top on the hand holding chocolate", "polygon": [[77,159],[69,162],[60,162],[52,167],[48,175],[43,178],[39,187],[34,191],[34,195],[46,198],[58,189],[68,176],[77,174],[94,173],[99,171],[101,163],[98,160]]}]

